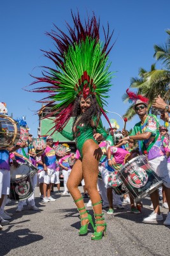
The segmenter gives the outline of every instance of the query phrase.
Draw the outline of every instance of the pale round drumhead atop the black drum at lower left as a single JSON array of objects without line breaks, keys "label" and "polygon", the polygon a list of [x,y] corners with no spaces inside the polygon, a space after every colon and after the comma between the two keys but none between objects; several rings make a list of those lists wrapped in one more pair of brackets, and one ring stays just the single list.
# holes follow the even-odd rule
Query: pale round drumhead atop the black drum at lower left
[{"label": "pale round drumhead atop the black drum at lower left", "polygon": [[30,172],[30,168],[27,164],[20,164],[18,168],[10,166],[11,180],[20,179],[26,177]]}]

